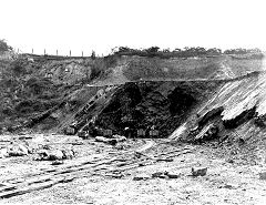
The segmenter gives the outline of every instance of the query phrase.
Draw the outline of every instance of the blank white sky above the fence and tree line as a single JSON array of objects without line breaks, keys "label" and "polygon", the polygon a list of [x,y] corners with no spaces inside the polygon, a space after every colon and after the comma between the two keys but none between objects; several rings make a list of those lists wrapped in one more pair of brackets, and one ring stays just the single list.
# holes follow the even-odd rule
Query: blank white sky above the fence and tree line
[{"label": "blank white sky above the fence and tree line", "polygon": [[260,48],[265,0],[0,0],[0,39],[23,52]]}]

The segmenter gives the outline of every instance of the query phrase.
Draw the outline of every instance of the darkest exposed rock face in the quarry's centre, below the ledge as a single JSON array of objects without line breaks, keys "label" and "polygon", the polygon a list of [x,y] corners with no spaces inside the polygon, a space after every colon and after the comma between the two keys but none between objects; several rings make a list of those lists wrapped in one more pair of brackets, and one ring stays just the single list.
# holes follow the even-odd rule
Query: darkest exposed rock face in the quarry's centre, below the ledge
[{"label": "darkest exposed rock face in the quarry's centre, below the ledge", "polygon": [[126,126],[135,132],[140,129],[149,131],[154,126],[158,130],[158,137],[165,137],[221,83],[126,83],[113,90],[109,96],[103,92],[86,112],[82,111],[84,114],[78,114],[76,127],[80,132],[90,130],[94,117],[95,126],[111,129],[114,134],[121,134]]}]

